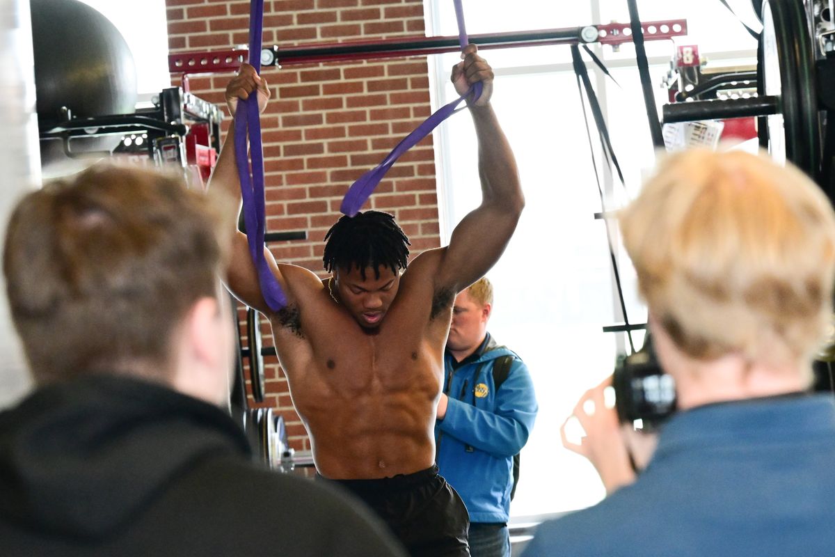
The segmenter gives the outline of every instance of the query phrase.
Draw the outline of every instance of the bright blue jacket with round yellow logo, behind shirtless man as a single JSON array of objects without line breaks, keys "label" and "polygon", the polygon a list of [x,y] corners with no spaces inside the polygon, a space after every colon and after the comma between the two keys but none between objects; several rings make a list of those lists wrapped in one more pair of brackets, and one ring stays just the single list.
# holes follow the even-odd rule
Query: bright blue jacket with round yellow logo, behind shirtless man
[{"label": "bright blue jacket with round yellow logo, behind shirtless man", "polygon": [[[496,358],[513,355],[507,379],[493,384]],[[471,522],[506,523],[510,513],[514,454],[528,441],[538,406],[528,367],[488,334],[474,357],[453,369],[444,355],[446,416],[435,423],[441,475],[458,491]]]}]

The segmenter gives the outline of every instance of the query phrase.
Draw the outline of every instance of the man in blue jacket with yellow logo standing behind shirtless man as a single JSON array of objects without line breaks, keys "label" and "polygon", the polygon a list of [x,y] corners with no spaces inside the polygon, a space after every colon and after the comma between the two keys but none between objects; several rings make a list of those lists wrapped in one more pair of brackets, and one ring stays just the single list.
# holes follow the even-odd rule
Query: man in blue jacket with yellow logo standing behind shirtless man
[{"label": "man in blue jacket with yellow logo standing behind shirtless man", "polygon": [[528,367],[487,332],[492,309],[486,277],[455,298],[435,425],[438,468],[467,505],[473,557],[510,555],[514,455],[538,409]]}]

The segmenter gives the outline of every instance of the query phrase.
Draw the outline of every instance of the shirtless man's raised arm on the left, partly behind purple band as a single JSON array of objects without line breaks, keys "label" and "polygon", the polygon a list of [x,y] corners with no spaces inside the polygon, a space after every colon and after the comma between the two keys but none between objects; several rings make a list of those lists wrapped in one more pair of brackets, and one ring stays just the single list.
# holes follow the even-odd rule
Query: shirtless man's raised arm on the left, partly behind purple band
[{"label": "shirtless man's raised arm on the left, partly behind purple band", "polygon": [[[226,86],[225,97],[230,114],[235,114],[238,99],[247,99],[255,92],[258,95],[258,106],[263,112],[267,101],[270,99],[270,89],[267,87],[266,80],[256,73],[255,68],[247,63],[242,64],[237,75]],[[209,188],[223,190],[229,196],[228,208],[230,212],[234,212],[233,216],[235,218],[233,220],[236,226],[237,216],[240,213],[241,195],[238,165],[235,161],[235,124],[230,125],[229,131],[226,133],[226,139],[220,149],[220,156],[209,179]],[[281,280],[281,273],[278,271],[276,261],[266,247],[264,248],[264,255],[273,273],[278,277],[281,286],[285,286],[284,281]],[[269,311],[264,296],[261,294],[261,284],[258,281],[258,273],[250,256],[246,236],[237,230],[235,230],[232,238],[230,261],[225,282],[235,296],[247,306],[264,313]]]}]

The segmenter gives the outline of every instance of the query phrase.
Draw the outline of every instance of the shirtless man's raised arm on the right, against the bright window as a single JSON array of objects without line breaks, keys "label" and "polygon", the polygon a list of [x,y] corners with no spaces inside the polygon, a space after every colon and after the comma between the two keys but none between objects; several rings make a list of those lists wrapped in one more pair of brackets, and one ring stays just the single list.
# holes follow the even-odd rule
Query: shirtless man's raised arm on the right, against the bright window
[{"label": "shirtless man's raised arm on the right, against the bright window", "polygon": [[453,230],[438,270],[436,286],[456,292],[484,276],[498,261],[524,207],[516,159],[489,102],[493,68],[478,56],[474,44],[463,55],[463,62],[453,68],[455,89],[463,94],[471,84],[483,83],[483,94],[469,105],[478,138],[482,201]]}]

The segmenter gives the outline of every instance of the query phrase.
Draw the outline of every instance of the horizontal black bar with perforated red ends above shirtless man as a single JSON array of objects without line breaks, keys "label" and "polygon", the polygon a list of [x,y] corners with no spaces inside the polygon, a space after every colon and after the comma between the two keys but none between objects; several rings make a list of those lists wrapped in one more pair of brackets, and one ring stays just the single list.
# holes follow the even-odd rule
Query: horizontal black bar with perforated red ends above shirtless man
[{"label": "horizontal black bar with perforated red ends above shirtless man", "polygon": [[[668,40],[687,34],[686,19],[668,19],[641,23],[645,41]],[[632,41],[629,23],[607,23],[585,27],[541,29],[519,33],[484,33],[470,35],[478,48],[519,48],[557,44],[601,43],[620,45]],[[287,64],[347,62],[371,58],[395,58],[458,52],[458,36],[386,38],[377,41],[352,41],[301,45],[292,48],[273,46],[261,50],[262,66]],[[235,70],[248,56],[245,48],[194,53],[170,54],[170,73],[210,73]]]}]

